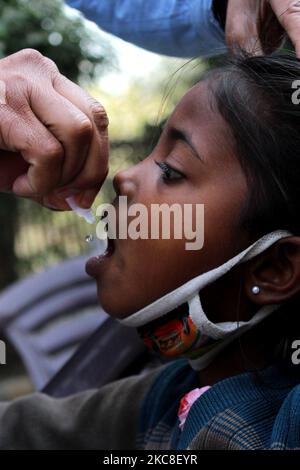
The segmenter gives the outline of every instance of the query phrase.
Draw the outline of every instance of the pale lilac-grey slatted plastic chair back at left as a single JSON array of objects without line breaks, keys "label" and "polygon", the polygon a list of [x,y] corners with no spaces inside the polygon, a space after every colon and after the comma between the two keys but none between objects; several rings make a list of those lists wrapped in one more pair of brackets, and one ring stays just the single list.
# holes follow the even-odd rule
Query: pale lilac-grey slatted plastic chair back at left
[{"label": "pale lilac-grey slatted plastic chair back at left", "polygon": [[85,255],[29,276],[0,294],[0,331],[20,354],[34,387],[42,389],[107,319]]}]

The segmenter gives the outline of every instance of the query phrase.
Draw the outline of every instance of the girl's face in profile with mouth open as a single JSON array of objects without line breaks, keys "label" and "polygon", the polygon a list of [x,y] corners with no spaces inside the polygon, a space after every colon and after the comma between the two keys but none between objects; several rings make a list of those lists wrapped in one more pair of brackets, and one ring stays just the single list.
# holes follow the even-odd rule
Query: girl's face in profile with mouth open
[{"label": "girl's face in profile with mouth open", "polygon": [[108,256],[88,261],[99,301],[114,317],[131,315],[249,244],[239,228],[246,177],[229,127],[210,106],[205,81],[177,105],[153,152],[115,176],[114,188],[117,196],[127,196],[128,206],[141,203],[149,212],[151,204],[204,204],[204,245],[198,251],[186,250],[184,238],[128,238],[114,240]]}]

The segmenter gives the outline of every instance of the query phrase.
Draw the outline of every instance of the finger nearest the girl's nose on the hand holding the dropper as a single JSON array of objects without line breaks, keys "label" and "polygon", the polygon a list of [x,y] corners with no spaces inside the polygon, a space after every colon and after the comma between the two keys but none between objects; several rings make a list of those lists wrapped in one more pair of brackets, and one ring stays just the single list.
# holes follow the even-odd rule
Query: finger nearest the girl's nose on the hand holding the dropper
[{"label": "finger nearest the girl's nose on the hand holding the dropper", "polygon": [[[93,136],[85,165],[71,181],[68,187],[88,190],[101,186],[108,173],[108,118],[103,108],[84,90],[65,77],[60,76],[54,82],[58,93],[63,95],[90,118],[93,125]],[[67,197],[64,194],[64,197]]]}]

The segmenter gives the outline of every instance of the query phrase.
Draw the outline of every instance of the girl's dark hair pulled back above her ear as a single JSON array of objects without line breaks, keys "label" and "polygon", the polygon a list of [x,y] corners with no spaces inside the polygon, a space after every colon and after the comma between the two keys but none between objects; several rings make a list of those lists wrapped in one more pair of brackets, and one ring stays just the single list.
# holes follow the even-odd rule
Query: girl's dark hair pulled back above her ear
[{"label": "girl's dark hair pulled back above her ear", "polygon": [[[300,104],[292,100],[293,83],[300,80],[300,60],[292,53],[252,57],[242,53],[206,78],[210,78],[212,106],[231,129],[248,181],[241,227],[254,239],[276,229],[300,236]],[[272,315],[272,333],[278,341],[300,337],[299,306],[296,294]],[[288,321],[281,320],[283,315]]]}]

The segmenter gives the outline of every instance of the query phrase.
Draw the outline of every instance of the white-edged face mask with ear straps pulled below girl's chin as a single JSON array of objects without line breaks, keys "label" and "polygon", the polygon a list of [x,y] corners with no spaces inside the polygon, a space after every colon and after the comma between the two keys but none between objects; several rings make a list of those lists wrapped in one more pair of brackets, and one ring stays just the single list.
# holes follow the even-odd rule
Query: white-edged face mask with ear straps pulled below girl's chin
[{"label": "white-edged face mask with ear straps pulled below girl's chin", "polygon": [[[200,274],[128,318],[119,320],[120,323],[137,327],[142,332],[146,331],[142,334],[146,344],[150,347],[154,344],[154,349],[162,354],[169,357],[188,357],[195,370],[205,368],[228,343],[253,328],[281,304],[263,306],[247,322],[212,323],[203,311],[201,290],[224,276],[234,266],[254,258],[281,238],[292,235],[286,230],[276,230],[264,235],[221,266]],[[168,315],[164,321],[165,315],[185,303],[188,304],[188,309],[184,318],[177,319],[175,315],[171,320],[167,320]],[[155,322],[157,319],[159,321]]]}]

